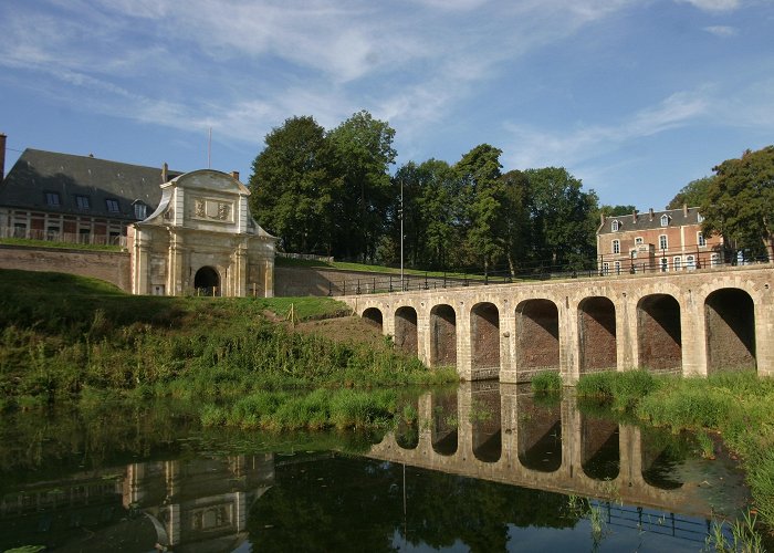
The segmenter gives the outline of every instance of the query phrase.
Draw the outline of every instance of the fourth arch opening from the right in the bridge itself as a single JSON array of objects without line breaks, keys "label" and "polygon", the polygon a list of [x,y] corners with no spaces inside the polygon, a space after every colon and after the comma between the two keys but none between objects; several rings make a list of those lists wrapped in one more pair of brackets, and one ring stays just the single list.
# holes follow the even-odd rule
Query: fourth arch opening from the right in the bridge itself
[{"label": "fourth arch opening from the right in the bridge itself", "polygon": [[516,306],[516,367],[520,373],[559,367],[559,312],[550,300]]}]

